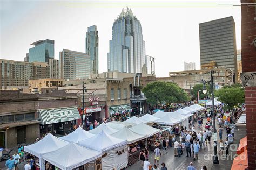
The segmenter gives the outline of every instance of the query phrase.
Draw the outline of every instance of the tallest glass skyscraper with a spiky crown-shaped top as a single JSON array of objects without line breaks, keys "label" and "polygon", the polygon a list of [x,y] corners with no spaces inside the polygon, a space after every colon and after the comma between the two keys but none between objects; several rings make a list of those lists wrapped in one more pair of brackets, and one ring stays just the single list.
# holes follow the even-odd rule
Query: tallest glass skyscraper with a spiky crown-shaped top
[{"label": "tallest glass skyscraper with a spiky crown-shaped top", "polygon": [[112,26],[110,52],[107,53],[109,71],[142,73],[145,66],[145,41],[142,26],[132,10],[122,10]]}]

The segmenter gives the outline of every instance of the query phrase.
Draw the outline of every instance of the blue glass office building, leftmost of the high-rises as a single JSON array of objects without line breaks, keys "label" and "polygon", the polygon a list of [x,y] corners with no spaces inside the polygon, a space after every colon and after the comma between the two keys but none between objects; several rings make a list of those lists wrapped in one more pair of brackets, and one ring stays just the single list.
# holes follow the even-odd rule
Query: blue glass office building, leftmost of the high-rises
[{"label": "blue glass office building, leftmost of the high-rises", "polygon": [[39,40],[31,45],[29,49],[29,62],[38,61],[38,62],[47,62],[49,59],[54,58],[54,40]]}]

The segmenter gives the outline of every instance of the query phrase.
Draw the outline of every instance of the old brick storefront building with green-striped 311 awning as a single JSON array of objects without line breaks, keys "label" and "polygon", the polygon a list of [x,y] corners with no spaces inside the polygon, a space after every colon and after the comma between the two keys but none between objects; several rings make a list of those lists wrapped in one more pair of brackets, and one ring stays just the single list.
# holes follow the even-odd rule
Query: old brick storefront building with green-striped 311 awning
[{"label": "old brick storefront building with green-striped 311 awning", "polygon": [[66,133],[80,119],[77,99],[77,94],[64,90],[51,89],[42,94],[0,90],[0,147],[32,143],[53,130]]}]

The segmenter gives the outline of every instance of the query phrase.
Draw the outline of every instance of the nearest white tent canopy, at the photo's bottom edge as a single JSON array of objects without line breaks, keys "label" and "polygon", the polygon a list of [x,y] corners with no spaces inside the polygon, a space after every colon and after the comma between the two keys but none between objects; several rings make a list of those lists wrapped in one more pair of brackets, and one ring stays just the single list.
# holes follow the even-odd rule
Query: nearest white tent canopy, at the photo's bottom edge
[{"label": "nearest white tent canopy, at the photo's bottom edge", "polygon": [[101,156],[102,152],[90,150],[76,143],[69,143],[56,151],[42,155],[44,160],[61,169],[74,169]]}]

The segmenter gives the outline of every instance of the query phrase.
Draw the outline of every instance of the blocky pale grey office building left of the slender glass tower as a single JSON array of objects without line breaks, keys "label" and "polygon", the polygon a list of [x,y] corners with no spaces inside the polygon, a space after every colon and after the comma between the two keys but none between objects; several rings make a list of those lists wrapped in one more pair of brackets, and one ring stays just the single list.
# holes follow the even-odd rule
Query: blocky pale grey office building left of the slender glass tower
[{"label": "blocky pale grey office building left of the slender glass tower", "polygon": [[60,75],[62,79],[85,79],[91,73],[90,55],[82,52],[63,49],[59,52]]}]

